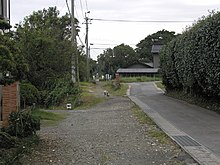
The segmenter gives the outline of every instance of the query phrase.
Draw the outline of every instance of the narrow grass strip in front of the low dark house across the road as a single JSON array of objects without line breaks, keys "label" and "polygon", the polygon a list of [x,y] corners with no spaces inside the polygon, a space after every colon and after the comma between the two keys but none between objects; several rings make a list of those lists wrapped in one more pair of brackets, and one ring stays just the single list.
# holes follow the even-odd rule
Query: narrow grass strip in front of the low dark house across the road
[{"label": "narrow grass strip in front of the low dark house across the road", "polygon": [[147,77],[147,76],[141,76],[141,77],[121,77],[120,81],[122,83],[132,83],[132,82],[150,82],[150,81],[161,81],[161,77]]}]

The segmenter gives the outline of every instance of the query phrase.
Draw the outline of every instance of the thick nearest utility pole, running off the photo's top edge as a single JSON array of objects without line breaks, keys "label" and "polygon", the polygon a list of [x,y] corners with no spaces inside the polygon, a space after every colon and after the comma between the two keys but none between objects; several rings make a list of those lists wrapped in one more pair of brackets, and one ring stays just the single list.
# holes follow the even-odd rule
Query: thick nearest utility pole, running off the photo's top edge
[{"label": "thick nearest utility pole, running off the photo's top edge", "polygon": [[79,66],[78,66],[78,51],[76,40],[76,26],[74,16],[74,0],[71,0],[71,41],[74,53],[71,56],[71,79],[73,83],[79,83]]}]

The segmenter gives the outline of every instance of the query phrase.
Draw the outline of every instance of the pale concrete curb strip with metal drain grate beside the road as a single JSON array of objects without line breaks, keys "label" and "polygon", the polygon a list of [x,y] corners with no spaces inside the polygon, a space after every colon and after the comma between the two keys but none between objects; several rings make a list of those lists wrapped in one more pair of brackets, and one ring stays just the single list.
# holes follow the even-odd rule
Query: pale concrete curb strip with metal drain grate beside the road
[{"label": "pale concrete curb strip with metal drain grate beside the road", "polygon": [[193,157],[201,165],[219,165],[220,158],[214,155],[208,148],[194,140],[188,134],[180,131],[159,113],[150,108],[135,96],[130,96],[130,86],[127,96],[137,104],[174,142]]}]

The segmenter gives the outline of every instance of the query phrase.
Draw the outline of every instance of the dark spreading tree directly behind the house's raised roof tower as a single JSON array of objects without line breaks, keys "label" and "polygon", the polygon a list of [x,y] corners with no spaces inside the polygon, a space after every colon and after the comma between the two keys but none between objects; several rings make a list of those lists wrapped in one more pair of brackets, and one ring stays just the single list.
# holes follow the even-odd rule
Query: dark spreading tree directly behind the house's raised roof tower
[{"label": "dark spreading tree directly behind the house's raised roof tower", "polygon": [[169,41],[171,41],[173,38],[175,38],[175,32],[167,31],[167,30],[161,30],[156,33],[153,33],[151,35],[148,35],[145,39],[141,40],[136,46],[136,52],[139,56],[139,61],[141,62],[152,62],[153,56],[151,53],[151,48],[154,43],[155,39],[162,38],[160,40],[161,44],[166,45]]}]

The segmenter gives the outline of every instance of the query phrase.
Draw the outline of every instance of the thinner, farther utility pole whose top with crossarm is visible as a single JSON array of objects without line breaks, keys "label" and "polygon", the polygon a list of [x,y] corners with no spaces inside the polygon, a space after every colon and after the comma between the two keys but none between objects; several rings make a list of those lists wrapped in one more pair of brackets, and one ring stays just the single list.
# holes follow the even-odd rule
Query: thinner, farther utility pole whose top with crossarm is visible
[{"label": "thinner, farther utility pole whose top with crossarm is visible", "polygon": [[90,77],[90,67],[89,67],[89,18],[87,17],[86,14],[90,13],[90,11],[85,13],[85,20],[86,20],[86,79],[89,81]]}]

